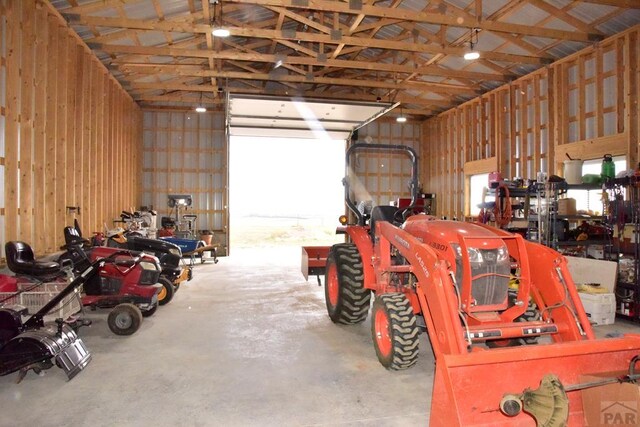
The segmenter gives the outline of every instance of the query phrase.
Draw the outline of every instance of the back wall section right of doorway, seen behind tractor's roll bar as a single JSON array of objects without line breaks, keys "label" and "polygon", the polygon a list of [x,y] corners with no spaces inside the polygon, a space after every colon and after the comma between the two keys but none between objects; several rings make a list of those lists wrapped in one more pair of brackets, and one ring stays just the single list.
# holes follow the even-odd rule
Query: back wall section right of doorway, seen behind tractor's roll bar
[{"label": "back wall section right of doorway, seen behind tractor's roll bar", "polygon": [[[369,139],[370,138],[370,139]],[[421,157],[421,126],[417,123],[397,123],[378,119],[358,130],[358,142],[372,144],[408,145]],[[409,195],[411,161],[404,154],[365,152],[355,156],[353,170],[359,186],[364,190],[361,199],[372,200],[373,205],[388,205],[400,196]]]}]

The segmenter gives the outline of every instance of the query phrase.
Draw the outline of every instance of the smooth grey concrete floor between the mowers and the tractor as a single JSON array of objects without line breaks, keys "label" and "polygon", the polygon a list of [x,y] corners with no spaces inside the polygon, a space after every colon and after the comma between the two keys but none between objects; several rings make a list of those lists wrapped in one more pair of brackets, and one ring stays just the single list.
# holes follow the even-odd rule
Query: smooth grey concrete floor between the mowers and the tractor
[{"label": "smooth grey concrete floor between the mowers and the tractor", "polygon": [[[0,426],[426,425],[433,355],[422,335],[410,370],[378,363],[367,320],[336,326],[323,288],[304,281],[295,248],[237,250],[196,266],[175,299],[131,337],[91,314],[93,361],[0,377]],[[617,322],[597,328],[640,332]]]}]

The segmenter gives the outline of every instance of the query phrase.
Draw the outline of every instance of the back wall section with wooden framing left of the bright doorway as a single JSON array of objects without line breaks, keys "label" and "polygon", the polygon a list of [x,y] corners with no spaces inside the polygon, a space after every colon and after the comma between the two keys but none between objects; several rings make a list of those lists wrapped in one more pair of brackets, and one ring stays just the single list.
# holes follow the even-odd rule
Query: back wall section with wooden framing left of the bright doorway
[{"label": "back wall section with wooden framing left of the bright doorway", "polygon": [[141,203],[173,216],[168,194],[191,194],[196,230],[212,230],[227,254],[227,139],[224,113],[144,113]]}]

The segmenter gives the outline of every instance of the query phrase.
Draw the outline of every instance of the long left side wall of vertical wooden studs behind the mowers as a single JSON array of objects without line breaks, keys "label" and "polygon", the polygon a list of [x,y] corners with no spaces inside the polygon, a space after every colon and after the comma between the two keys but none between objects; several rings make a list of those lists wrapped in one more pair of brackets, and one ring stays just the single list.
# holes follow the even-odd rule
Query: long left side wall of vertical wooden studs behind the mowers
[{"label": "long left side wall of vertical wooden studs behind the mowers", "polygon": [[137,204],[142,114],[48,2],[2,0],[0,26],[0,241],[49,253]]}]

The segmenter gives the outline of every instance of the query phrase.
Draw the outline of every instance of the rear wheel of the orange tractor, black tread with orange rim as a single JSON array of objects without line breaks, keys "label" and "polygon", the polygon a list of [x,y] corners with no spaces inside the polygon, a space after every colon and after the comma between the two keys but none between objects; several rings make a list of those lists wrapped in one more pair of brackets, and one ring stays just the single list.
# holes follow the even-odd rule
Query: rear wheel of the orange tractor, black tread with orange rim
[{"label": "rear wheel of the orange tractor, black tread with orange rim", "polygon": [[356,245],[333,245],[327,257],[324,296],[334,323],[362,323],[369,312],[371,291],[364,287],[364,267]]}]

